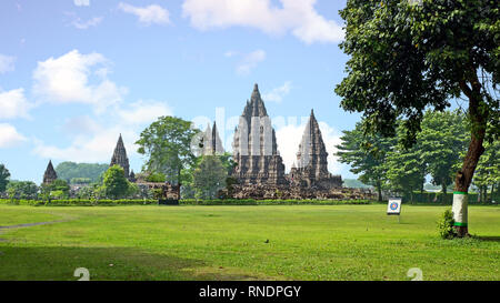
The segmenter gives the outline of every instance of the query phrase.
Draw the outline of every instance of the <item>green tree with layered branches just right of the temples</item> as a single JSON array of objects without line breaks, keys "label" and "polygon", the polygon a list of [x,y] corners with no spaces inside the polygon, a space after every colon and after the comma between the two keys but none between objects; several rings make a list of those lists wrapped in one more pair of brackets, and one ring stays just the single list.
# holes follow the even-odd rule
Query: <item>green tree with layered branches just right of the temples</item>
[{"label": "green tree with layered branches just right of the temples", "polygon": [[337,145],[339,161],[350,164],[350,171],[359,174],[359,180],[364,184],[373,185],[382,201],[382,188],[386,182],[387,152],[393,145],[394,140],[378,134],[364,133],[362,123],[357,123],[352,131],[342,131],[341,144]]}]

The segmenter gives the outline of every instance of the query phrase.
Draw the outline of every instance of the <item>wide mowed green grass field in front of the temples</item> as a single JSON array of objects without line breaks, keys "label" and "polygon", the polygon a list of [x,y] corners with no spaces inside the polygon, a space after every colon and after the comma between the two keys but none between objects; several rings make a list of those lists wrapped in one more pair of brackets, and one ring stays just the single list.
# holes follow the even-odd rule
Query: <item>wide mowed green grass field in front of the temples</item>
[{"label": "wide mowed green grass field in front of the temples", "polygon": [[444,206],[0,205],[0,280],[500,280],[500,208],[441,240]]}]

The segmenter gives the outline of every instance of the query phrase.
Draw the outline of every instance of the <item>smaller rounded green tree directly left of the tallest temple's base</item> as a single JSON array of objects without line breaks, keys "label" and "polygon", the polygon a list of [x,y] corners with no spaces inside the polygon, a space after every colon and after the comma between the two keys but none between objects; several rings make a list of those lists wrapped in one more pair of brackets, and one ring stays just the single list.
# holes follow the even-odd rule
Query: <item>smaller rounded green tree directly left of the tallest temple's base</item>
[{"label": "smaller rounded green tree directly left of the tallest temple's base", "polygon": [[203,155],[193,173],[196,196],[214,199],[217,192],[224,188],[227,176],[227,169],[218,155]]}]

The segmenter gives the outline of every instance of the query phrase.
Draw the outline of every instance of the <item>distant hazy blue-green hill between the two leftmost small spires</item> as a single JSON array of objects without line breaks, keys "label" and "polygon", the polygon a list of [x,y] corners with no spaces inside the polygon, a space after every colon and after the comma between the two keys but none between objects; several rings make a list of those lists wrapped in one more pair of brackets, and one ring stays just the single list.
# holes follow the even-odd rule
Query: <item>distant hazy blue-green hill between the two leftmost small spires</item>
[{"label": "distant hazy blue-green hill between the two leftmost small spires", "polygon": [[97,182],[108,168],[108,164],[61,162],[56,166],[56,172],[59,179],[72,183],[83,179],[87,179],[90,182]]}]

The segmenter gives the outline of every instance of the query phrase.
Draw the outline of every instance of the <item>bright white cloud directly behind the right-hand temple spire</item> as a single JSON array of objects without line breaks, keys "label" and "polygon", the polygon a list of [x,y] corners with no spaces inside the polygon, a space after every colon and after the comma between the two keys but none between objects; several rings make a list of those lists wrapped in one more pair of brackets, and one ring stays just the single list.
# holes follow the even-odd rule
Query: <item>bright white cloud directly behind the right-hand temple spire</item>
[{"label": "bright white cloud directly behind the right-hand temple spire", "polygon": [[[308,120],[302,118],[302,122],[307,122]],[[328,152],[328,169],[331,173],[338,174],[340,173],[340,164],[333,154],[337,152],[334,145],[340,143],[340,134],[326,122],[319,122],[319,127]],[[278,150],[283,159],[287,172],[297,162],[297,152],[299,151],[299,144],[302,140],[304,129],[306,123],[301,123],[300,125],[288,124],[276,131]]]}]

